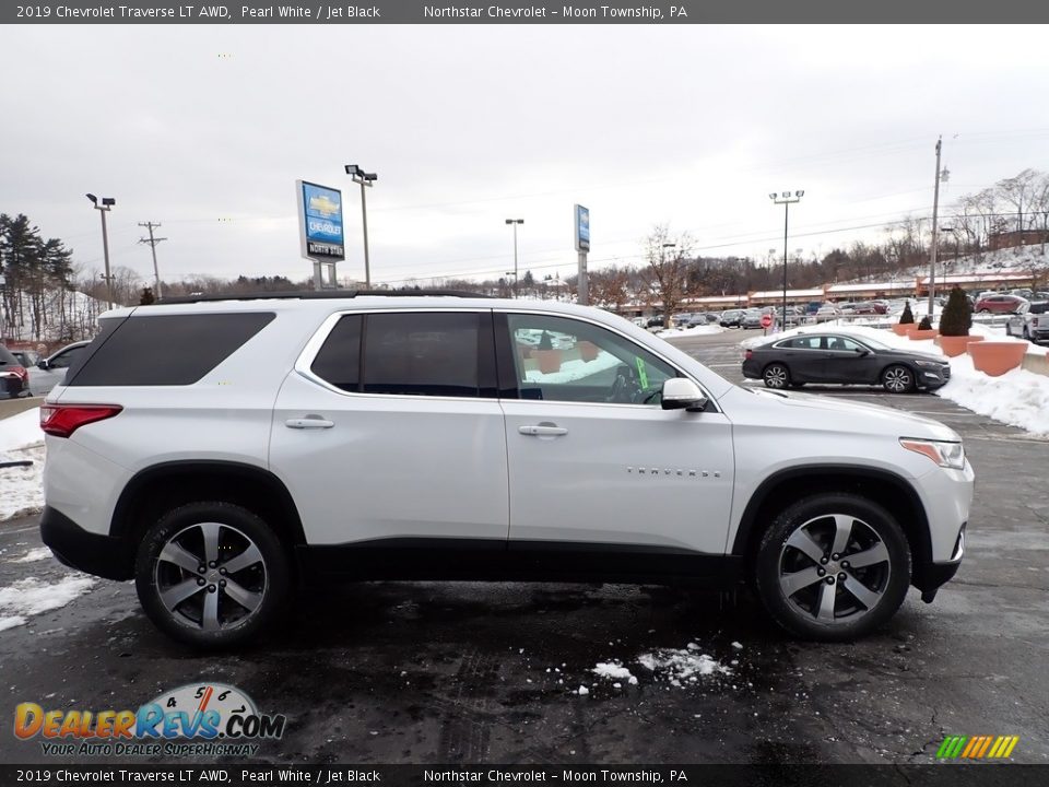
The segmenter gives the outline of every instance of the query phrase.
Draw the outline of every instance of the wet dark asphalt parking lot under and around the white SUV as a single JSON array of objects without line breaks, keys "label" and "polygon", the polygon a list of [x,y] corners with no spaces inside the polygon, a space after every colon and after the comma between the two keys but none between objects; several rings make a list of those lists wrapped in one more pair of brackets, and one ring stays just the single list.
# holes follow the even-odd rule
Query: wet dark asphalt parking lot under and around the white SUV
[{"label": "wet dark asphalt parking lot under and around the white SUV", "polygon": [[[675,343],[739,383],[743,336]],[[1049,762],[1049,445],[934,395],[805,392],[944,421],[977,472],[957,577],[932,606],[911,589],[862,642],[792,642],[743,594],[378,583],[304,594],[258,645],[199,656],[153,629],[130,584],[98,580],[0,635],[0,707],[135,708],[222,682],[287,716],[256,762],[906,764],[934,762],[947,735],[1016,735],[1015,762]],[[19,562],[36,525],[0,526],[0,588],[69,574]],[[613,661],[636,683],[594,673]],[[61,761],[0,735],[0,762]]]}]

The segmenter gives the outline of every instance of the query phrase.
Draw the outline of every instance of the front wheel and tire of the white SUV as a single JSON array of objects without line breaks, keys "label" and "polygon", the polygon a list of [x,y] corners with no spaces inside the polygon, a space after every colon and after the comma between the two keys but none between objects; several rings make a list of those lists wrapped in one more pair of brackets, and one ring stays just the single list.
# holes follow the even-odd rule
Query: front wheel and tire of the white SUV
[{"label": "front wheel and tire of the white SUV", "polygon": [[[849,522],[849,536],[842,552],[832,553],[839,521]],[[829,560],[832,554],[838,557]],[[849,556],[872,563],[851,566]],[[754,578],[762,603],[785,630],[806,639],[848,642],[896,613],[910,585],[910,565],[907,538],[887,510],[859,495],[825,493],[798,501],[773,521],[758,547]],[[826,599],[829,616],[823,614]]]}]

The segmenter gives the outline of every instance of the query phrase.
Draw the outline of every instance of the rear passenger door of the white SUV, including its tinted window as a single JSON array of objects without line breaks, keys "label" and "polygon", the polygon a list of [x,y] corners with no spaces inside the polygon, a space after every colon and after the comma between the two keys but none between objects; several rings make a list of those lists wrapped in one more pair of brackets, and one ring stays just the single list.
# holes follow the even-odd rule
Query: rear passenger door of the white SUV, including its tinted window
[{"label": "rear passenger door of the white SUV, including its tinted window", "polygon": [[[291,491],[308,542],[505,542],[506,431],[498,401],[414,395],[427,387],[439,392],[494,390],[488,316],[480,334],[473,328],[480,352],[493,355],[480,364],[463,362],[470,350],[463,350],[461,326],[445,330],[433,320],[405,315],[406,327],[399,336],[391,313],[379,317],[364,329],[370,344],[361,343],[361,324],[354,322],[360,315],[329,326],[316,360],[308,349],[278,395],[271,468]],[[412,333],[413,325],[422,328]],[[446,357],[457,341],[455,357]],[[478,340],[473,342],[478,346]],[[372,372],[362,360],[370,363]],[[492,371],[492,380],[484,379],[484,369]],[[369,387],[387,392],[361,392]],[[413,395],[389,392],[398,390]]]}]

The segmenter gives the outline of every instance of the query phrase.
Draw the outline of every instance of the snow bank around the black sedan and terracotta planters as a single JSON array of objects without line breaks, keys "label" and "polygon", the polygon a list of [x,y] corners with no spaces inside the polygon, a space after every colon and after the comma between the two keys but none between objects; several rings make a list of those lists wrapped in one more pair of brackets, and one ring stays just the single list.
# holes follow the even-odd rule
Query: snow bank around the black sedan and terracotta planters
[{"label": "snow bank around the black sedan and terracotta planters", "polygon": [[[899,337],[892,331],[868,328],[863,326],[842,326],[828,329],[825,325],[802,326],[792,328],[776,337],[755,337],[746,339],[740,344],[743,348],[755,348],[774,339],[782,339],[798,333],[816,333],[825,330],[836,330],[841,333],[851,333],[858,338],[872,339],[883,344],[901,350],[943,355],[943,351],[931,339],[912,341],[907,337]],[[973,336],[983,336],[985,340],[1022,342],[1023,339],[1011,339],[1005,336],[1004,328],[974,325],[969,331]],[[1045,354],[1046,348],[1032,342],[1024,342],[1027,352]],[[980,415],[987,415],[1002,423],[1017,426],[1032,435],[1049,437],[1049,377],[1026,369],[1013,369],[1001,377],[988,377],[982,372],[973,368],[973,359],[967,354],[947,359],[951,362],[951,381],[936,391],[944,399],[968,408]],[[761,380],[755,380],[761,383]]]}]

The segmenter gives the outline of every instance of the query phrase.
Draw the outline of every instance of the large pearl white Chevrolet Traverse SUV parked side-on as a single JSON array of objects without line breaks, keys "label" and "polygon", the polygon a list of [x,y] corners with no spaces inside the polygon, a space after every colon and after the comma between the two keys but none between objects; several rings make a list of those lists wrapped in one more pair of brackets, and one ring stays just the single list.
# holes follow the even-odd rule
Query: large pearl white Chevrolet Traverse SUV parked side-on
[{"label": "large pearl white Chevrolet Traverse SUV parked side-on", "polygon": [[256,634],[320,574],[749,582],[791,633],[849,639],[909,585],[932,601],[973,496],[940,423],[740,388],[547,302],[117,309],[42,422],[44,541],[134,578],[197,646]]}]

